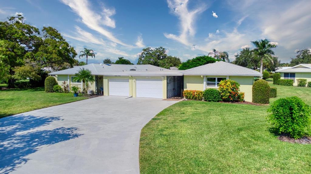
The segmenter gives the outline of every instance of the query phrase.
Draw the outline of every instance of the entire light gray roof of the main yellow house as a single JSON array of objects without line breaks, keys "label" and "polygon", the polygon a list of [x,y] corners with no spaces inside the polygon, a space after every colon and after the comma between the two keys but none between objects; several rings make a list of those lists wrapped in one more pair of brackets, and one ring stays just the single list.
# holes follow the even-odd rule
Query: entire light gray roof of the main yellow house
[{"label": "entire light gray roof of the main yellow house", "polygon": [[[123,64],[97,64],[91,63],[62,71],[51,72],[49,75],[74,75],[80,68],[88,69],[92,75],[105,76],[262,76],[260,72],[241,67],[232,63],[216,62],[188,70],[169,70],[153,65],[123,65]],[[135,69],[135,71],[131,70]]]}]

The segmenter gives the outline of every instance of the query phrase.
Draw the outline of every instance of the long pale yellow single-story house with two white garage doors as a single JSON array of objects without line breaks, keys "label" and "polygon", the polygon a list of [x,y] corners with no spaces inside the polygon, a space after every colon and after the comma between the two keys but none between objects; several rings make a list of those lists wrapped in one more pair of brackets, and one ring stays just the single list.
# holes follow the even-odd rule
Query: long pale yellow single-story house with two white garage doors
[{"label": "long pale yellow single-story house with two white garage doors", "polygon": [[104,95],[132,96],[146,98],[182,97],[183,90],[205,90],[217,88],[221,80],[231,79],[240,84],[245,101],[252,101],[252,85],[257,71],[226,62],[216,62],[188,70],[169,70],[153,65],[88,64],[49,73],[57,78],[58,84],[67,81],[70,86],[74,74],[84,67],[94,76],[91,89],[97,94],[103,89]]}]

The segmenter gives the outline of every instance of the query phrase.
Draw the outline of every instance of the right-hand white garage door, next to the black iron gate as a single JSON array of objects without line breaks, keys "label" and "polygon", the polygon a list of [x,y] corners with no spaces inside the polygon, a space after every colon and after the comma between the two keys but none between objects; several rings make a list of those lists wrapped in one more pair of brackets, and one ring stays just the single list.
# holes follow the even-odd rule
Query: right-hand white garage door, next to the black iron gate
[{"label": "right-hand white garage door, next to the black iron gate", "polygon": [[136,79],[136,97],[163,98],[162,79]]}]

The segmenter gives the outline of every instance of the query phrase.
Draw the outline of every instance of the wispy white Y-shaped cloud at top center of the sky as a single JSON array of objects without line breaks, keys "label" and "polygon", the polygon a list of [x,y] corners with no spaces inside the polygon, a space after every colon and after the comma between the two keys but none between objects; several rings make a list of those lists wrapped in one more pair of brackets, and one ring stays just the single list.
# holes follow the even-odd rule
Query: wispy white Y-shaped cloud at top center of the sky
[{"label": "wispy white Y-shaped cloud at top center of the sky", "polygon": [[194,36],[196,30],[194,28],[194,21],[197,15],[206,10],[205,5],[201,5],[191,11],[188,10],[188,0],[187,1],[167,1],[168,7],[174,15],[178,16],[180,20],[180,35],[176,36],[174,34],[164,33],[164,36],[169,39],[179,41],[180,43],[191,46],[192,44],[188,41],[188,35]]}]

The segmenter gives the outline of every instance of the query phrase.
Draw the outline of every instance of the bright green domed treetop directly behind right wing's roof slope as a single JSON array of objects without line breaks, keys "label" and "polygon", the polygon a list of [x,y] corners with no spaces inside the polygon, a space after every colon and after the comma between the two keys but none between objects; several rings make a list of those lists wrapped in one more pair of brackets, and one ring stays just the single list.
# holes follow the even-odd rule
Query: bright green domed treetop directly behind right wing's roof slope
[{"label": "bright green domed treetop directly behind right wing's roof slope", "polygon": [[196,58],[193,59],[188,59],[186,62],[183,62],[180,67],[179,70],[186,70],[186,69],[190,69],[193,67],[198,67],[198,66],[202,66],[202,65],[206,65],[208,63],[215,63],[216,59],[210,57],[210,56],[198,56]]}]

